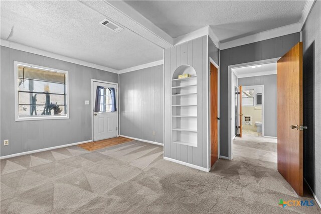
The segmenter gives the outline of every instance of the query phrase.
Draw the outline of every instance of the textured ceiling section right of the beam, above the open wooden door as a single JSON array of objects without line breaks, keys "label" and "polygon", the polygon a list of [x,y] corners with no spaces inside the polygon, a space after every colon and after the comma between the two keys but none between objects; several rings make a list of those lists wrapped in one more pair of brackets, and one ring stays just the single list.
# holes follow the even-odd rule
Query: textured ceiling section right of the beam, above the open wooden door
[{"label": "textured ceiling section right of the beam, above the open wooden door", "polygon": [[210,25],[221,42],[297,23],[306,1],[126,1],[173,38]]}]

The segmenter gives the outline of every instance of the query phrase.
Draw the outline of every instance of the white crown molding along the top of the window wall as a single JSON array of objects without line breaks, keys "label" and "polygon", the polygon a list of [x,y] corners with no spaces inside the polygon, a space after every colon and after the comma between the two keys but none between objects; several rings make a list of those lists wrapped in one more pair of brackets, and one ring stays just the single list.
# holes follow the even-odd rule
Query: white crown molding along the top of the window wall
[{"label": "white crown molding along the top of the window wall", "polygon": [[95,69],[99,69],[99,70],[103,70],[103,71],[108,71],[108,72],[112,72],[112,73],[117,73],[118,74],[118,70],[113,69],[113,68],[109,68],[109,67],[105,67],[102,65],[97,65],[94,63],[90,63],[90,62],[86,62],[86,61],[82,61],[79,59],[74,59],[74,58],[70,58],[67,56],[63,56],[63,55],[59,55],[59,54],[55,54],[52,52],[48,52],[48,51],[44,51],[38,48],[33,48],[30,46],[26,46],[26,45],[22,45],[16,42],[10,42],[8,40],[3,40],[1,39],[0,42],[1,46],[4,47],[8,47],[8,48],[12,48],[12,49],[16,49],[16,50],[20,50],[20,51],[25,51],[25,52],[29,52],[29,53],[33,53],[33,54],[38,54],[41,56],[46,56],[46,57],[50,57],[50,58],[54,58],[54,59],[59,59],[65,62],[71,62],[71,63],[75,63],[78,65],[83,65],[83,66],[87,66],[87,67],[91,67],[91,68],[95,68]]}]

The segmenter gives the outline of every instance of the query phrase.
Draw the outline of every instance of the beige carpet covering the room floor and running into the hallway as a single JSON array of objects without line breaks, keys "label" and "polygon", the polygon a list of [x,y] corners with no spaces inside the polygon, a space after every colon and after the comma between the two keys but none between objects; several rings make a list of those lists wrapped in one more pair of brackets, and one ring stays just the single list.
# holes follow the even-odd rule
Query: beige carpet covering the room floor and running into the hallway
[{"label": "beige carpet covering the room floor and running into the hallway", "polygon": [[165,161],[163,147],[138,141],[1,160],[1,213],[320,213],[278,205],[312,198],[298,197],[275,170],[271,143],[233,149],[234,160],[218,160],[210,173]]}]

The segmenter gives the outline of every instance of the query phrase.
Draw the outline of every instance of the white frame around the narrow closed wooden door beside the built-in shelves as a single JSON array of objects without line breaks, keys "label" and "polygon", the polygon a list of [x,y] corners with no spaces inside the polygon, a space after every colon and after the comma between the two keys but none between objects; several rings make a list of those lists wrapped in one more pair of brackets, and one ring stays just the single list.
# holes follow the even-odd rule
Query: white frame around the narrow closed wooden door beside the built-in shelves
[{"label": "white frame around the narrow closed wooden door beside the built-in shelves", "polygon": [[[211,63],[217,68],[217,117],[220,117],[220,66],[211,58],[209,57],[209,75],[211,73]],[[211,78],[209,78],[211,79]],[[209,143],[208,143],[208,151],[209,151],[209,157],[210,156],[210,152],[211,152],[211,81],[209,81],[209,119],[208,119],[208,124],[209,124]],[[217,158],[220,158],[220,120],[218,120],[218,124],[217,124]],[[211,159],[209,158],[209,168],[211,167]]]}]

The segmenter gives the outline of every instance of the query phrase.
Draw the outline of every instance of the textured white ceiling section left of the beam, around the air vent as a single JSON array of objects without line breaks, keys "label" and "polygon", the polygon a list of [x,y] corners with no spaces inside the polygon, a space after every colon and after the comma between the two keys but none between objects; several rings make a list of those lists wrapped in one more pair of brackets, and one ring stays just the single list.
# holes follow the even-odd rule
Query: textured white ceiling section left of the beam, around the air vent
[{"label": "textured white ceiling section left of the beam, around the air vent", "polygon": [[162,48],[110,31],[104,18],[78,1],[1,1],[1,39],[118,70],[163,59]]}]

